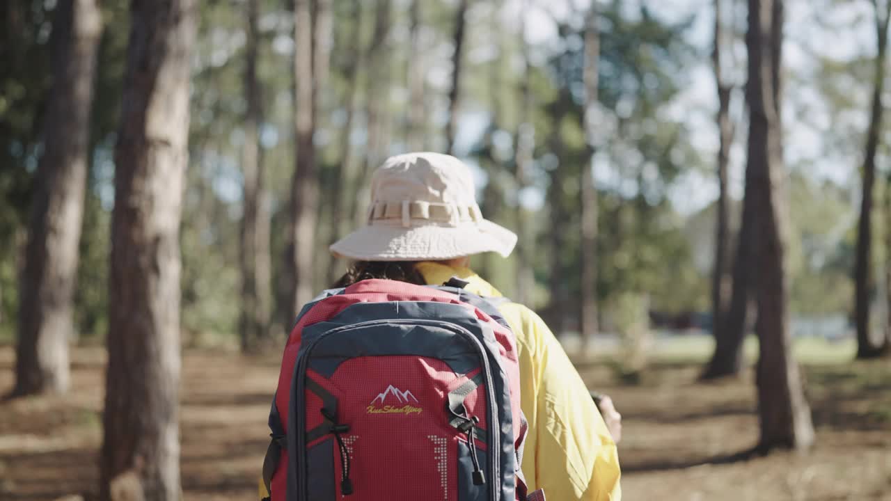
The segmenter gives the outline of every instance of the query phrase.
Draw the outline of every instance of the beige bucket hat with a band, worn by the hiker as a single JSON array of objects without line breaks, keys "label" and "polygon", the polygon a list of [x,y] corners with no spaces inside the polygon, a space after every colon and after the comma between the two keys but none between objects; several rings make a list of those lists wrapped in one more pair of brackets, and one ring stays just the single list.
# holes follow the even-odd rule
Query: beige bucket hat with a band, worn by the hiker
[{"label": "beige bucket hat with a band, worn by the hiker", "polygon": [[365,226],[331,245],[365,261],[454,259],[494,251],[507,257],[517,235],[483,218],[470,168],[440,153],[390,157],[372,177]]}]

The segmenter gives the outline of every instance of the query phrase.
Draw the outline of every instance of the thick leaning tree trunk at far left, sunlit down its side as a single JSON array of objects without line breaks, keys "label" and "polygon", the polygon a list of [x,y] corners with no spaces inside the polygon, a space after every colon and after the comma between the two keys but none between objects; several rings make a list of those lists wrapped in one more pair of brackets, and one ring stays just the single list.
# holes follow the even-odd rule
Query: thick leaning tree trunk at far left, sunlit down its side
[{"label": "thick leaning tree trunk at far left, sunlit down its side", "polygon": [[90,109],[102,15],[95,0],[61,0],[53,21],[53,83],[37,167],[13,395],[69,388],[71,299],[84,214]]}]

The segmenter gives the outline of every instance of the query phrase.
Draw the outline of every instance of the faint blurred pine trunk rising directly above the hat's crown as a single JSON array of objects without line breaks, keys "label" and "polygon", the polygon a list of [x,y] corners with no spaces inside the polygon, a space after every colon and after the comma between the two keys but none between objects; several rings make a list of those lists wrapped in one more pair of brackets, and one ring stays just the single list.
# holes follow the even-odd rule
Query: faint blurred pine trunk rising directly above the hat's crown
[{"label": "faint blurred pine trunk rising directly above the hat's crown", "polygon": [[409,8],[409,24],[411,45],[408,67],[408,121],[405,127],[405,143],[409,151],[419,152],[424,149],[427,136],[427,105],[424,98],[427,94],[427,64],[425,62],[423,37],[422,0],[413,0]]}]

